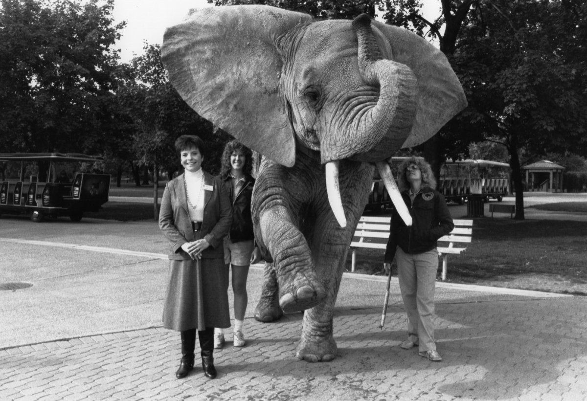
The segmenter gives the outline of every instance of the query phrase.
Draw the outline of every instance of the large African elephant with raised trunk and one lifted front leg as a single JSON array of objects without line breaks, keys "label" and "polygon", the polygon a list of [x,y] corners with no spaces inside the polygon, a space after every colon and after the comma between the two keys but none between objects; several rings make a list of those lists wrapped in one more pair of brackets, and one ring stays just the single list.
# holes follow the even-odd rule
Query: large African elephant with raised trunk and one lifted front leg
[{"label": "large African elephant with raised trunk and one lifted front leg", "polygon": [[332,360],[336,296],[375,168],[411,224],[388,161],[467,106],[456,74],[407,29],[265,5],[191,10],[166,29],[161,60],[195,112],[262,155],[255,318],[303,311],[296,356]]}]

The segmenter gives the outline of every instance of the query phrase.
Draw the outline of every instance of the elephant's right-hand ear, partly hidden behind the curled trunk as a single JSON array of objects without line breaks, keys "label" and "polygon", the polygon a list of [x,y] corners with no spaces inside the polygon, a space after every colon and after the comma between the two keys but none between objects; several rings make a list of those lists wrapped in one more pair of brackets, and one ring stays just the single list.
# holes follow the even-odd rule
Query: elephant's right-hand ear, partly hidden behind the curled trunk
[{"label": "elephant's right-hand ear, partly hidden behind the curled trunk", "polygon": [[467,107],[463,87],[446,56],[426,39],[397,26],[372,21],[389,41],[393,60],[411,68],[420,89],[414,126],[402,147],[423,143]]}]

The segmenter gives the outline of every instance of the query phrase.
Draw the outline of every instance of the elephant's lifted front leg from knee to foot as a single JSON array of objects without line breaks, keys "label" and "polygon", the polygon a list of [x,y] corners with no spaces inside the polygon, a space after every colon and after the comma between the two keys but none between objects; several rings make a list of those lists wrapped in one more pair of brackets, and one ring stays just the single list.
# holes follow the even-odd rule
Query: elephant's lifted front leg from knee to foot
[{"label": "elephant's lifted front leg from knee to foot", "polygon": [[308,242],[289,210],[283,206],[268,208],[260,213],[259,224],[277,268],[281,308],[293,312],[318,305],[326,291],[316,275]]}]

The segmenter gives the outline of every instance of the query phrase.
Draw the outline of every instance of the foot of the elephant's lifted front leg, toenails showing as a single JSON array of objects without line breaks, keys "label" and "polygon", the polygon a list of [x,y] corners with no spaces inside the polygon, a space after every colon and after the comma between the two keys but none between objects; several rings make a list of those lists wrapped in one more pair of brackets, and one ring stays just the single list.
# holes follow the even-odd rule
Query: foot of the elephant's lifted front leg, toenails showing
[{"label": "foot of the elephant's lifted front leg, toenails showing", "polygon": [[279,305],[284,312],[305,311],[326,297],[326,290],[312,269],[298,272],[294,277],[279,276],[278,281]]}]

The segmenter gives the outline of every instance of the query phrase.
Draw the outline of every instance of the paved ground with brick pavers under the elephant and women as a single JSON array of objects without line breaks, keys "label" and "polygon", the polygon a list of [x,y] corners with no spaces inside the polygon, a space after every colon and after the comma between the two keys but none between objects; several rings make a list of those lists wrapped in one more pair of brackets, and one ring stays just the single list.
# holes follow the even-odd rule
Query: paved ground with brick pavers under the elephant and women
[{"label": "paved ground with brick pavers under the elephant and women", "polygon": [[307,363],[301,314],[252,319],[259,267],[248,345],[215,352],[215,380],[177,380],[179,336],[160,325],[165,245],[153,223],[0,218],[0,284],[33,284],[0,291],[0,400],[587,399],[583,297],[438,283],[435,363],[399,348],[397,280],[381,330],[384,279],[345,274],[339,356]]}]

